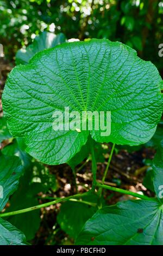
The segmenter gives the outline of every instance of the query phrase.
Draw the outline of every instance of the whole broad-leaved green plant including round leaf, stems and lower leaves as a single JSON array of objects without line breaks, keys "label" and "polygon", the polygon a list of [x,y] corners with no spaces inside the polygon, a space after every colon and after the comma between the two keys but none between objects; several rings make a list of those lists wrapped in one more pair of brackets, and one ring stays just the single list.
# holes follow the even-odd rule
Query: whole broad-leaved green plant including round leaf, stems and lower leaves
[{"label": "whole broad-leaved green plant including round leaf, stems and lower leaves", "polygon": [[[30,46],[27,51],[36,54],[29,60],[25,52],[22,62],[18,54],[17,63],[22,64],[10,72],[5,84],[2,139],[11,139],[12,143],[1,150],[0,156],[0,185],[3,188],[0,243],[27,244],[33,239],[39,221],[27,230],[20,225],[21,215],[26,215],[27,220],[35,220],[39,209],[63,202],[57,221],[75,239],[76,245],[163,245],[163,130],[159,123],[163,82],[158,70],[121,42],[92,39],[61,41],[60,45],[55,45],[51,44],[47,50],[41,48],[38,53],[33,50],[34,45]],[[65,108],[73,113],[70,120],[73,129],[70,126],[65,129]],[[58,118],[54,121],[56,111]],[[83,112],[85,119],[79,121],[77,113]],[[97,120],[93,117],[89,129],[89,114],[94,112],[103,113],[106,123],[103,125],[106,130],[110,127],[109,133],[103,135],[100,125],[96,129]],[[111,113],[110,118],[107,112]],[[4,129],[5,120],[9,132]],[[83,129],[84,122],[86,129]],[[160,130],[156,130],[158,123]],[[156,132],[157,151],[152,163],[152,185],[156,196],[147,197],[106,185],[116,146],[152,143]],[[97,181],[97,159],[102,157],[99,147],[103,143],[109,143],[111,151],[103,178]],[[76,184],[77,193],[69,197],[36,203],[37,193],[49,188],[56,190],[56,181],[49,175],[46,164],[68,163],[75,177],[75,167],[84,159],[91,161],[92,166],[90,190],[79,193]],[[38,177],[41,182],[36,182]],[[18,187],[18,180],[21,187]],[[108,206],[103,197],[104,190],[127,194],[135,200]],[[16,208],[11,204],[11,208],[4,211],[14,191],[10,200],[15,202],[14,205],[16,199],[21,198],[21,203]],[[28,206],[24,204],[24,197],[27,197]],[[30,213],[33,213],[32,217]]]}]

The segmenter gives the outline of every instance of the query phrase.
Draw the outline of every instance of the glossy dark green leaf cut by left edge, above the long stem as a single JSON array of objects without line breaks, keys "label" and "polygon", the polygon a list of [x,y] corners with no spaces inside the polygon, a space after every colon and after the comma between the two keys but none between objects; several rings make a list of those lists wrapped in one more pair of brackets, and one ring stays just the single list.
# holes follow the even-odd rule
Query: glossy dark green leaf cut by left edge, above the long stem
[{"label": "glossy dark green leaf cut by left edge, above the long stem", "polygon": [[0,197],[0,211],[8,202],[9,196],[18,187],[18,179],[23,173],[20,159],[16,156],[0,155],[0,185],[2,196]]}]

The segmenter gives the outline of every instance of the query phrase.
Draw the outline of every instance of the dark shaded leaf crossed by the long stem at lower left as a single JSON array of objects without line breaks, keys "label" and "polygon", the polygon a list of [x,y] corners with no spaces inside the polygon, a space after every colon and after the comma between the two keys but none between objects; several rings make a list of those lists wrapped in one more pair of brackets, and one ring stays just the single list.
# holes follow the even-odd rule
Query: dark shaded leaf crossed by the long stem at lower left
[{"label": "dark shaded leaf crossed by the long stem at lower left", "polygon": [[[10,200],[10,207],[7,212],[29,208],[39,204],[36,196],[39,192],[47,192],[49,188],[56,190],[55,176],[49,174],[49,170],[38,162],[30,162],[29,169],[20,179],[18,190]],[[35,237],[36,231],[40,227],[40,210],[26,212],[21,215],[14,215],[7,220],[20,229],[27,241]]]}]

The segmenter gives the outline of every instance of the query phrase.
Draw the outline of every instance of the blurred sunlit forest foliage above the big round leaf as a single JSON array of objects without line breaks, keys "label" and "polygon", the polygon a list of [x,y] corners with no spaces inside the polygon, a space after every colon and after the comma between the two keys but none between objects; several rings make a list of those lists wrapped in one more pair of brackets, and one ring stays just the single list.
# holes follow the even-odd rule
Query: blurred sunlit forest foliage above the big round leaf
[{"label": "blurred sunlit forest foliage above the big round leaf", "polygon": [[0,14],[1,44],[10,60],[40,31],[55,31],[67,39],[121,41],[162,69],[158,45],[163,41],[163,2],[159,0],[1,0]]}]

